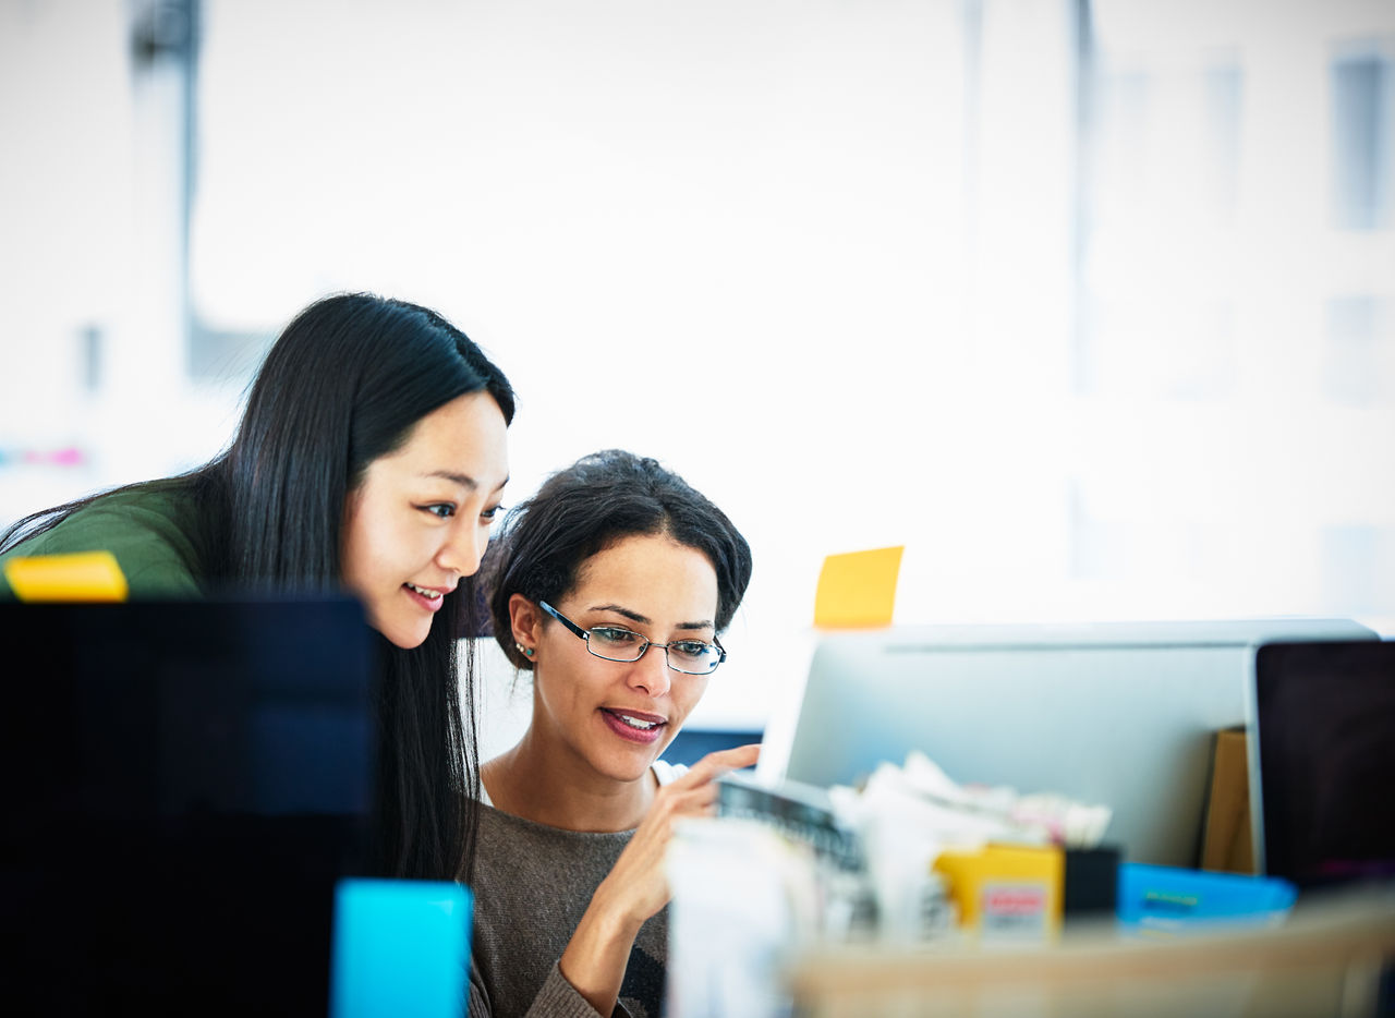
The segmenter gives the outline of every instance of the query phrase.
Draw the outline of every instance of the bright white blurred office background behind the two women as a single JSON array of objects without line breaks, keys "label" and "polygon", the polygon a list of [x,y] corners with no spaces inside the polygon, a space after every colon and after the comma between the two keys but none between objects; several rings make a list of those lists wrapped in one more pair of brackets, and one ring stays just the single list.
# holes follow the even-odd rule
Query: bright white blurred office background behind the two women
[{"label": "bright white blurred office background behind the two women", "polygon": [[695,724],[898,622],[1395,630],[1389,0],[0,0],[0,522],[216,453],[301,307],[445,312],[516,502],[756,555]]}]

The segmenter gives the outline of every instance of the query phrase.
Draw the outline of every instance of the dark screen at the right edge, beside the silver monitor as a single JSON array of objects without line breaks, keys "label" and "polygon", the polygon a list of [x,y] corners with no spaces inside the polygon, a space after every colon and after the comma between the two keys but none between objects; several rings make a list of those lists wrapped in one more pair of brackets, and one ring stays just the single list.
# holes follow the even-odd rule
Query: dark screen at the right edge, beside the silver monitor
[{"label": "dark screen at the right edge, beside the silver monitor", "polygon": [[1260,647],[1254,727],[1264,872],[1395,879],[1395,643]]}]

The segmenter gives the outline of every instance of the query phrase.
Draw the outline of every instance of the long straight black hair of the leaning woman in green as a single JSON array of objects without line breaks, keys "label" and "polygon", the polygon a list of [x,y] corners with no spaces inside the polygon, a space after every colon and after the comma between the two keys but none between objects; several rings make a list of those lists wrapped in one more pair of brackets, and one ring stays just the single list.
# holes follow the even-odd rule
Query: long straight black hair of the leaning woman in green
[{"label": "long straight black hair of the leaning woman in green", "polygon": [[[226,452],[187,474],[126,489],[187,491],[206,522],[206,590],[340,588],[342,520],[372,460],[458,396],[488,392],[513,420],[513,390],[437,312],[374,294],[311,304],[280,333]],[[0,551],[50,530],[103,495],[32,513]],[[474,662],[459,640],[481,628],[473,577],[446,595],[425,641],[378,636],[378,802],[374,869],[453,880],[473,858],[478,795]],[[463,701],[463,711],[462,711]]]}]

